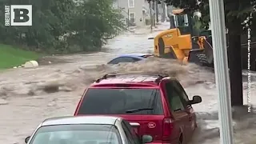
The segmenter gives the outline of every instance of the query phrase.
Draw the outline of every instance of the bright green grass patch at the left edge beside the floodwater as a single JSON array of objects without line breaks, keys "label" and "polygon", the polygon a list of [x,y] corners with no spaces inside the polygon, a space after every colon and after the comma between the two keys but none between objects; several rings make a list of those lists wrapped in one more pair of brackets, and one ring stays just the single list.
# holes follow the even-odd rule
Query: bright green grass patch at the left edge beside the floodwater
[{"label": "bright green grass patch at the left edge beside the floodwater", "polygon": [[40,54],[0,44],[0,70],[21,66],[27,61],[37,60]]}]

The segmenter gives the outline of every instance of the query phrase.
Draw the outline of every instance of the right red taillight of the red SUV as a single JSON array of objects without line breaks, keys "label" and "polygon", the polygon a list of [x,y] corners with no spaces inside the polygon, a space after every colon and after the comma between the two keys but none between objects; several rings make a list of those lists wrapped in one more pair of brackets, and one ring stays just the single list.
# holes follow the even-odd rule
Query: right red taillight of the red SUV
[{"label": "right red taillight of the red SUV", "polygon": [[164,118],[162,120],[162,140],[163,141],[169,141],[170,140],[170,134],[173,130],[173,124],[171,118]]}]

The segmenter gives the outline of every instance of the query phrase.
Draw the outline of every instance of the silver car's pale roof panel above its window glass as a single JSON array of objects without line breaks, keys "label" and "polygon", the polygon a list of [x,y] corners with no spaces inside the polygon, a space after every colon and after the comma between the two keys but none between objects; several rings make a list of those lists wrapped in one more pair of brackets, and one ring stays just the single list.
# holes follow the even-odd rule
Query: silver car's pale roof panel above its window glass
[{"label": "silver car's pale roof panel above its window glass", "polygon": [[122,118],[112,116],[66,116],[57,118],[48,118],[42,122],[41,126],[52,125],[71,125],[71,124],[99,124],[114,125],[117,120]]}]

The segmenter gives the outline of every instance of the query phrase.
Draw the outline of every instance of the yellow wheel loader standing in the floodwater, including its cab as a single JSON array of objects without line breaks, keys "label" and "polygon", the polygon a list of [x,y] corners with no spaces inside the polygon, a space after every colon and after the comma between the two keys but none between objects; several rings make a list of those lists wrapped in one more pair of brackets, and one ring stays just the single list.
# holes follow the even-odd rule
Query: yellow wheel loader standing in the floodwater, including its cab
[{"label": "yellow wheel loader standing in the floodwater, including its cab", "polygon": [[[154,55],[159,58],[174,58],[180,62],[194,62],[213,66],[213,50],[210,31],[195,34],[193,18],[186,10],[173,10],[170,30],[162,31],[154,38]],[[172,21],[172,22],[171,22]]]}]

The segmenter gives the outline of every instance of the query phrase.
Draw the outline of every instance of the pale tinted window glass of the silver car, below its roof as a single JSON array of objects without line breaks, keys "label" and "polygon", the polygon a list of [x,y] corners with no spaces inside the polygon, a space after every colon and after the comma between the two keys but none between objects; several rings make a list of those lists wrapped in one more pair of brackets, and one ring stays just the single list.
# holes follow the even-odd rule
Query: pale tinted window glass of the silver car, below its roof
[{"label": "pale tinted window glass of the silver car, below its roof", "polygon": [[42,126],[30,144],[121,144],[118,130],[112,125]]}]

